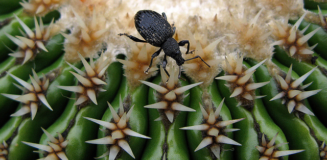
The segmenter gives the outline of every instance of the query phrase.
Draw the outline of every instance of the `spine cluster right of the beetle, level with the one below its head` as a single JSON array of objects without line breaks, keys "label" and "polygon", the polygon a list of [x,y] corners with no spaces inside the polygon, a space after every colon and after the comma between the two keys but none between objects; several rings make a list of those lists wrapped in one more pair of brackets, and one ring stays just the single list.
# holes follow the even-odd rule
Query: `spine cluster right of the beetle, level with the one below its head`
[{"label": "spine cluster right of the beetle, level with the one below its head", "polygon": [[261,98],[262,96],[255,95],[255,89],[267,85],[269,82],[254,83],[252,79],[252,74],[255,69],[258,68],[266,60],[261,61],[257,65],[246,68],[243,66],[243,58],[237,55],[232,57],[232,55],[227,55],[223,65],[223,70],[225,71],[224,76],[216,77],[216,79],[222,79],[227,81],[227,87],[230,90],[230,97],[235,97],[238,100],[238,106],[242,105],[248,109],[253,108],[254,99]]}]

